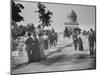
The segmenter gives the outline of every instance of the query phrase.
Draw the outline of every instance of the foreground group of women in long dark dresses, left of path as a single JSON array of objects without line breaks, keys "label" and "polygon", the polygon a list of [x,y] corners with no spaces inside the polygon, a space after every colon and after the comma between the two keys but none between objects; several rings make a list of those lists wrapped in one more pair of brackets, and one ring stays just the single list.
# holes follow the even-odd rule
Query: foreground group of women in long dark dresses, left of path
[{"label": "foreground group of women in long dark dresses, left of path", "polygon": [[40,61],[41,59],[46,59],[44,53],[44,39],[42,34],[39,34],[39,40],[36,38],[36,35],[28,33],[28,39],[25,41],[26,51],[28,54],[29,63],[34,61]]}]

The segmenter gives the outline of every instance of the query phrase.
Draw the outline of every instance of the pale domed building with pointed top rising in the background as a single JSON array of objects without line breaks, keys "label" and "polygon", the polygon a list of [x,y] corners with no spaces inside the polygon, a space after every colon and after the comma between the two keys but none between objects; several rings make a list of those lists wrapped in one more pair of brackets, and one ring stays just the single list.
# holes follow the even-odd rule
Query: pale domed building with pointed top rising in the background
[{"label": "pale domed building with pointed top rising in the background", "polygon": [[72,9],[71,12],[68,13],[67,15],[67,20],[64,23],[65,29],[67,28],[68,31],[73,31],[74,28],[79,27],[79,23],[77,22],[77,14],[75,11]]}]

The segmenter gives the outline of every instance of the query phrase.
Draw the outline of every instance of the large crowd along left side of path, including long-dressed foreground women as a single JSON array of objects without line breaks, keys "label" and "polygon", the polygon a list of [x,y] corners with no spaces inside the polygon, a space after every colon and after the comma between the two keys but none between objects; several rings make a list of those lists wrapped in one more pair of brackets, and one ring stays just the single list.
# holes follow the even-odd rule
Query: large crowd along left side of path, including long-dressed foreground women
[{"label": "large crowd along left side of path, including long-dressed foreground women", "polygon": [[14,45],[14,42],[18,44],[15,46],[16,48],[12,47],[18,50],[20,54],[24,50],[27,52],[28,63],[37,62],[46,59],[45,50],[57,45],[57,33],[43,32],[36,34],[34,32],[26,32],[24,36],[20,36],[12,41],[12,45]]}]

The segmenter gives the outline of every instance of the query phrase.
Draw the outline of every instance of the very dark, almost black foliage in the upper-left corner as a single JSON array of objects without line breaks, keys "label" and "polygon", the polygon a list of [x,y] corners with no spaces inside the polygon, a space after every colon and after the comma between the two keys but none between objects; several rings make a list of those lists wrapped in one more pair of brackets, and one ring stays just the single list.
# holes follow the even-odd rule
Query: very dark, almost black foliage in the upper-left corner
[{"label": "very dark, almost black foliage in the upper-left corner", "polygon": [[21,12],[21,9],[24,9],[24,6],[19,3],[15,3],[13,0],[11,1],[11,19],[15,22],[20,22],[21,20],[24,21],[23,17],[19,14]]}]

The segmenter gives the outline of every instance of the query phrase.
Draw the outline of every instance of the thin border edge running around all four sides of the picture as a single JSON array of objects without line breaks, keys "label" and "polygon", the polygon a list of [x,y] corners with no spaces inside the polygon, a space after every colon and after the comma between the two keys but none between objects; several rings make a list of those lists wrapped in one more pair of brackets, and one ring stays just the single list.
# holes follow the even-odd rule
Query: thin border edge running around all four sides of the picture
[{"label": "thin border edge running around all four sides of the picture", "polygon": [[[12,36],[12,29],[11,29],[11,17],[12,17],[12,9],[11,9],[11,1],[10,0],[10,74],[12,75],[12,60],[11,60],[11,47],[12,47],[12,40],[11,40],[11,36]],[[42,2],[42,1],[27,1],[27,0],[14,0],[14,1],[17,1],[17,2],[33,2],[33,3],[38,3],[38,2],[41,2],[41,3],[47,3],[47,4],[59,4],[59,5],[76,5],[76,6],[90,6],[90,7],[94,7],[95,8],[95,30],[96,30],[96,68],[97,68],[97,7],[96,5],[85,5],[85,4],[73,4],[73,3],[56,3],[56,2]],[[18,75],[19,74],[39,74],[39,73],[54,73],[54,72],[71,72],[71,71],[86,71],[86,70],[96,70],[96,68],[93,68],[93,69],[78,69],[78,70],[61,70],[61,71],[46,71],[46,72],[29,72],[29,73],[17,73]],[[13,75],[16,75],[16,74],[13,74]]]}]

